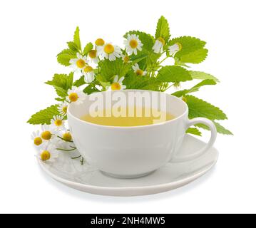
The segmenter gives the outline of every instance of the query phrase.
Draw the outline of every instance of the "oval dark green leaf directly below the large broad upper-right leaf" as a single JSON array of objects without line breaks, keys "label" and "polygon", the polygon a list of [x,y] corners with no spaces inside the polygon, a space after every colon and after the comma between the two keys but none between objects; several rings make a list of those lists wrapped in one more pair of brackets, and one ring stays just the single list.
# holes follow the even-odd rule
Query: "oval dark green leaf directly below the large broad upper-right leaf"
[{"label": "oval dark green leaf directly below the large broad upper-right leaf", "polygon": [[192,80],[190,73],[181,66],[164,66],[158,72],[158,81],[166,83],[180,83]]}]

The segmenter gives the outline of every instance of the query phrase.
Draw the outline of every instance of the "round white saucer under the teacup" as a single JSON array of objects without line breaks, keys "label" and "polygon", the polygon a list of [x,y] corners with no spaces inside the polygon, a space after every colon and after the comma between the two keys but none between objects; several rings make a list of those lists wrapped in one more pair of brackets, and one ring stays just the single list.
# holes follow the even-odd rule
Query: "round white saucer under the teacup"
[{"label": "round white saucer under the teacup", "polygon": [[[180,155],[196,151],[203,145],[205,142],[186,135]],[[97,195],[135,196],[166,192],[187,185],[208,172],[217,162],[217,157],[218,152],[213,147],[197,160],[169,162],[150,175],[136,179],[108,177],[86,163],[81,165],[79,160],[71,160],[65,153],[50,165],[41,160],[39,164],[53,179],[76,190]]]}]

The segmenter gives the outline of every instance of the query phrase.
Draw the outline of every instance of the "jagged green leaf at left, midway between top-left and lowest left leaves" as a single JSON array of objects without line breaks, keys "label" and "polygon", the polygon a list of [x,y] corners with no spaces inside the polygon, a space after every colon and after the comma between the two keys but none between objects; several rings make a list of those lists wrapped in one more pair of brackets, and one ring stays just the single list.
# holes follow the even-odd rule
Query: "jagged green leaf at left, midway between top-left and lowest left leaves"
[{"label": "jagged green leaf at left, midway between top-left and lowest left leaves", "polygon": [[69,75],[56,73],[53,76],[52,81],[47,81],[46,84],[63,88],[63,90],[71,89],[73,85],[73,72],[71,72]]}]

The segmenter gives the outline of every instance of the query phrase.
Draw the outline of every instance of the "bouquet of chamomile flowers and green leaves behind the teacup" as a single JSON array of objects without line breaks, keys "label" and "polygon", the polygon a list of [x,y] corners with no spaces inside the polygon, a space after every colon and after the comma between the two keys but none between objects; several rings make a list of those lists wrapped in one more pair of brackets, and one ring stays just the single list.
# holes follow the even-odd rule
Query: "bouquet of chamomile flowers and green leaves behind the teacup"
[{"label": "bouquet of chamomile flowers and green leaves behind the teacup", "polygon": [[[203,86],[219,83],[209,73],[192,71],[188,66],[201,63],[208,56],[205,41],[191,36],[171,37],[168,21],[163,16],[158,20],[155,36],[128,31],[123,38],[123,48],[103,38],[83,47],[79,28],[76,28],[73,41],[67,43],[68,48],[58,53],[58,63],[71,68],[68,75],[55,74],[46,82],[56,90],[58,103],[32,115],[28,121],[41,125],[41,130],[31,135],[41,160],[51,162],[61,151],[76,150],[65,123],[68,104],[79,104],[86,95],[106,90],[168,90],[188,104],[189,118],[208,118],[213,120],[218,133],[232,134],[216,122],[227,119],[220,108],[191,95]],[[172,59],[173,65],[166,66],[167,59]],[[195,81],[195,86],[180,90],[185,81]],[[197,124],[187,133],[201,135],[200,129],[208,130],[208,127]],[[81,158],[83,164],[83,157],[73,158]]]}]

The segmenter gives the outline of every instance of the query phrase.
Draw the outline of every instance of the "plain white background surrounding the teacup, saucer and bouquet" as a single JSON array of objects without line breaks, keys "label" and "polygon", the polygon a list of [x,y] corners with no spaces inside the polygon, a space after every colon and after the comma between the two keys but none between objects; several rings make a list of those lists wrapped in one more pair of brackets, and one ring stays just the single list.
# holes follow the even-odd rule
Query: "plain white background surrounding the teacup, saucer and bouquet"
[{"label": "plain white background surrounding the teacup, saucer and bouquet", "polygon": [[[76,26],[83,44],[103,37],[118,45],[132,29],[155,33],[158,18],[172,36],[208,42],[209,56],[193,69],[221,83],[198,97],[219,106],[235,136],[218,135],[220,159],[199,180],[173,192],[145,197],[103,197],[69,189],[46,176],[34,157],[26,120],[54,103],[43,84],[69,69],[56,54]],[[256,212],[255,1],[1,1],[0,212],[198,213]],[[206,140],[206,139],[205,139]]]}]

